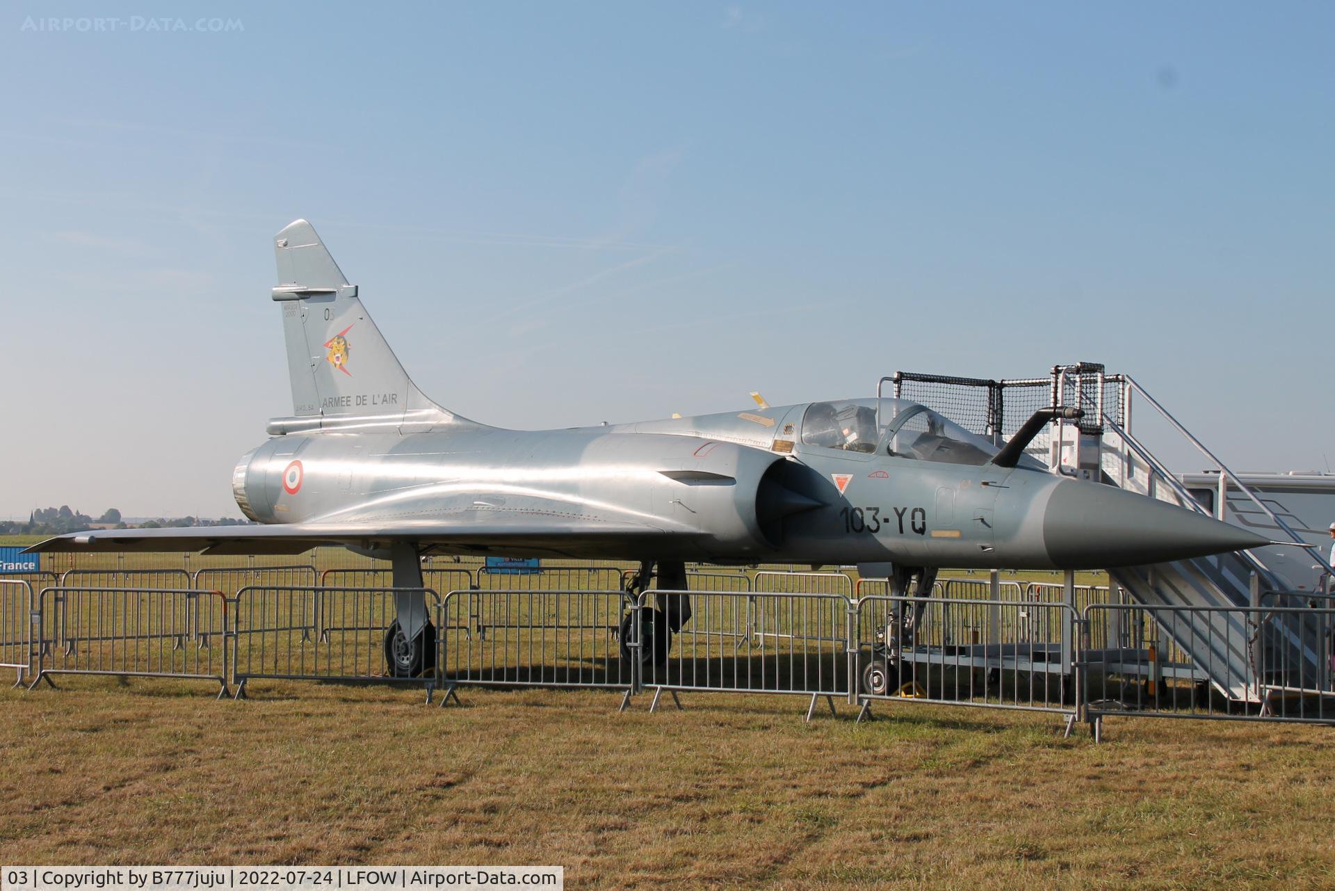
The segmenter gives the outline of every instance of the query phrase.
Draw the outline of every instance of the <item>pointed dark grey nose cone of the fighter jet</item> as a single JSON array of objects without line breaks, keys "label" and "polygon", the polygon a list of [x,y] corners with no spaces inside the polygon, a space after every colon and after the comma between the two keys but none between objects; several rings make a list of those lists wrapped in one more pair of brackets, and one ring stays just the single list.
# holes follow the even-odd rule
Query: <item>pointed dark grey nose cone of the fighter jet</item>
[{"label": "pointed dark grey nose cone of the fighter jet", "polygon": [[1063,569],[1104,569],[1258,548],[1268,538],[1133,492],[1064,480],[1044,512],[1043,542]]}]

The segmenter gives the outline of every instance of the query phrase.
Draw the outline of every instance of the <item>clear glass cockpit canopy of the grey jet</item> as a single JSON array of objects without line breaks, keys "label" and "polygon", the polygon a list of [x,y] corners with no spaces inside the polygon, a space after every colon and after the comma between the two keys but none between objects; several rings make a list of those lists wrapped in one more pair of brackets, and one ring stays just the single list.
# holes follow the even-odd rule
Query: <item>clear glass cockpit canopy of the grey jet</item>
[{"label": "clear glass cockpit canopy of the grey jet", "polygon": [[[906,399],[813,402],[802,415],[802,445],[964,465],[984,465],[1000,452],[984,437]],[[1039,466],[1029,458],[1021,461]]]}]

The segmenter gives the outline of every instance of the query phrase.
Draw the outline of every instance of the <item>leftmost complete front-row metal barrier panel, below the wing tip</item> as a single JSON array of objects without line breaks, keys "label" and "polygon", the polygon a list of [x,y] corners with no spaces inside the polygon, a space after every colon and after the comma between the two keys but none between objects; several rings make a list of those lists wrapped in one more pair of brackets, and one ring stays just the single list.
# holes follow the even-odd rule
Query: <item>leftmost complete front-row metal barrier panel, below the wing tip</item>
[{"label": "leftmost complete front-row metal barrier panel, below the wing tip", "polygon": [[119,675],[218,681],[227,691],[227,598],[192,588],[47,588],[37,676]]}]

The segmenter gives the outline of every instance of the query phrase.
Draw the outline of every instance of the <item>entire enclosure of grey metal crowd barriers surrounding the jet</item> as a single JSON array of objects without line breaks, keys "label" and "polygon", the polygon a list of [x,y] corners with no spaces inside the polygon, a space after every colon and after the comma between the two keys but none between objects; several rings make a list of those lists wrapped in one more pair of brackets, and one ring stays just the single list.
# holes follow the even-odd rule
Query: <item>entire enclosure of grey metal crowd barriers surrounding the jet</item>
[{"label": "entire enclosure of grey metal crowd barriers surrounding the jet", "polygon": [[[396,616],[380,570],[311,566],[183,570],[68,570],[67,584],[0,580],[0,667],[20,681],[61,673],[212,680],[223,692],[251,679],[392,681],[429,691],[457,685],[645,688],[786,693],[1076,713],[1096,739],[1113,716],[1219,717],[1335,724],[1335,597],[1267,592],[1250,608],[1145,606],[1125,592],[940,580],[932,597],[893,597],[885,580],[842,573],[690,573],[724,590],[649,590],[629,598],[611,568],[545,574],[427,569],[467,585],[441,598],[411,589],[434,617],[434,663],[390,677],[384,635]],[[550,574],[549,574],[550,573]],[[68,584],[143,581],[129,588]],[[195,588],[172,586],[183,578]],[[328,585],[331,580],[355,580]],[[513,588],[498,589],[503,580]],[[553,581],[577,581],[553,589]],[[590,582],[611,582],[589,589]],[[212,584],[211,589],[200,585]],[[785,588],[786,590],[769,590]],[[828,590],[818,590],[826,588]],[[880,593],[880,592],[885,593]],[[1057,593],[1061,592],[1061,593]],[[965,596],[952,596],[952,593]],[[692,617],[666,625],[689,596]],[[231,608],[230,608],[231,605]],[[35,621],[36,620],[36,621]],[[227,640],[227,639],[231,640]]]}]

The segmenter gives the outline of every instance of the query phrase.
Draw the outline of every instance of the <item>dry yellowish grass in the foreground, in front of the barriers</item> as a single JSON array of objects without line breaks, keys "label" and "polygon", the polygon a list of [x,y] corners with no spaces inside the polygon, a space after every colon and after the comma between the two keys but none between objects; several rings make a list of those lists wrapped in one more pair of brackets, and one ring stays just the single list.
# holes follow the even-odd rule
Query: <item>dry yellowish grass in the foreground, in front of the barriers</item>
[{"label": "dry yellowish grass in the foreground, in front of the barriers", "polygon": [[[1318,888],[1330,729],[793,697],[63,681],[0,695],[4,863],[551,863],[578,888]],[[828,715],[828,713],[826,713]]]}]

